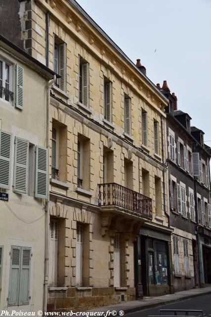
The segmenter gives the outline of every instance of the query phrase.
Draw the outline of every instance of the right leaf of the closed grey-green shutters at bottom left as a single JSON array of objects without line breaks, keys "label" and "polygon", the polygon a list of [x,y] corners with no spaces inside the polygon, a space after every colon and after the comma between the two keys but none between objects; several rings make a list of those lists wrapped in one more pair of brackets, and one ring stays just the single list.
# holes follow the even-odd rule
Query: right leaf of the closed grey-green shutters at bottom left
[{"label": "right leaf of the closed grey-green shutters at bottom left", "polygon": [[18,305],[27,305],[30,300],[31,248],[21,248],[20,286]]}]

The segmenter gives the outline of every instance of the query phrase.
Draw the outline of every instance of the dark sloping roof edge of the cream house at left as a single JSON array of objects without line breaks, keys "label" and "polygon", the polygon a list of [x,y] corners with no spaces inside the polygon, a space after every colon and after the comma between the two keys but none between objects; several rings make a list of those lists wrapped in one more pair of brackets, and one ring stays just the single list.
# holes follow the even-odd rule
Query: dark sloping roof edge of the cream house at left
[{"label": "dark sloping roof edge of the cream house at left", "polygon": [[[42,73],[47,76],[49,79],[53,78],[54,75],[58,76],[54,71],[52,71],[50,68],[48,68],[47,66],[45,66],[44,64],[42,64],[40,61],[38,61],[36,58],[32,57],[31,55],[29,55],[28,53],[26,53],[25,51],[23,51],[22,49],[20,49],[18,46],[16,46],[15,44],[13,44],[12,42],[10,42],[9,40],[7,40],[4,36],[0,35],[0,42],[4,43],[5,46],[7,46],[7,50],[12,52],[15,51],[16,55],[21,55],[22,58],[26,58],[29,61],[29,65],[37,65],[40,70],[42,71]],[[2,45],[1,45],[2,46]]]}]

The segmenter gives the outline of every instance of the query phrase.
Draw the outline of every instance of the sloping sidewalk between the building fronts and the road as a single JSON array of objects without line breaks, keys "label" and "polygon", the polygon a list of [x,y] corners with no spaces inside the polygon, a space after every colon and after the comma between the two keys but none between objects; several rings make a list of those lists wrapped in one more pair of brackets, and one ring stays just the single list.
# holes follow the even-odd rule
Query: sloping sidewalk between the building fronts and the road
[{"label": "sloping sidewalk between the building fronts and the road", "polygon": [[[125,314],[138,312],[144,309],[167,305],[175,302],[181,302],[192,297],[198,297],[211,294],[211,286],[204,288],[195,288],[188,291],[181,291],[174,294],[163,295],[158,297],[144,297],[142,300],[121,302],[121,304],[99,307],[89,312],[106,312],[106,311],[124,311]],[[118,316],[119,314],[117,314]]]}]

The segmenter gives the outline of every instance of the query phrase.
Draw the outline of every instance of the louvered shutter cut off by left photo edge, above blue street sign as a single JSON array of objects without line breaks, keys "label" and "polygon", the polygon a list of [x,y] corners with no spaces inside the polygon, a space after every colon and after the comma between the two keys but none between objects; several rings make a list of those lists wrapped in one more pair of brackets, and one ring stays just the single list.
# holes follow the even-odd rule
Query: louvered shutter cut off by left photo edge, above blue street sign
[{"label": "louvered shutter cut off by left photo edge, above blue street sign", "polygon": [[11,147],[11,133],[0,130],[0,188],[4,189],[10,187]]}]

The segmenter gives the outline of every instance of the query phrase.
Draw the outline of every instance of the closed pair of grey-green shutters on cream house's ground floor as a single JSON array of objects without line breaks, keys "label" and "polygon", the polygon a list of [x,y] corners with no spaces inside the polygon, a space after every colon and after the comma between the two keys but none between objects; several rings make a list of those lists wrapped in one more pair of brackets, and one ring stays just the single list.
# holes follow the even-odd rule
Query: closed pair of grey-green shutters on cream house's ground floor
[{"label": "closed pair of grey-green shutters on cream house's ground floor", "polygon": [[11,247],[8,306],[29,304],[31,248]]}]

